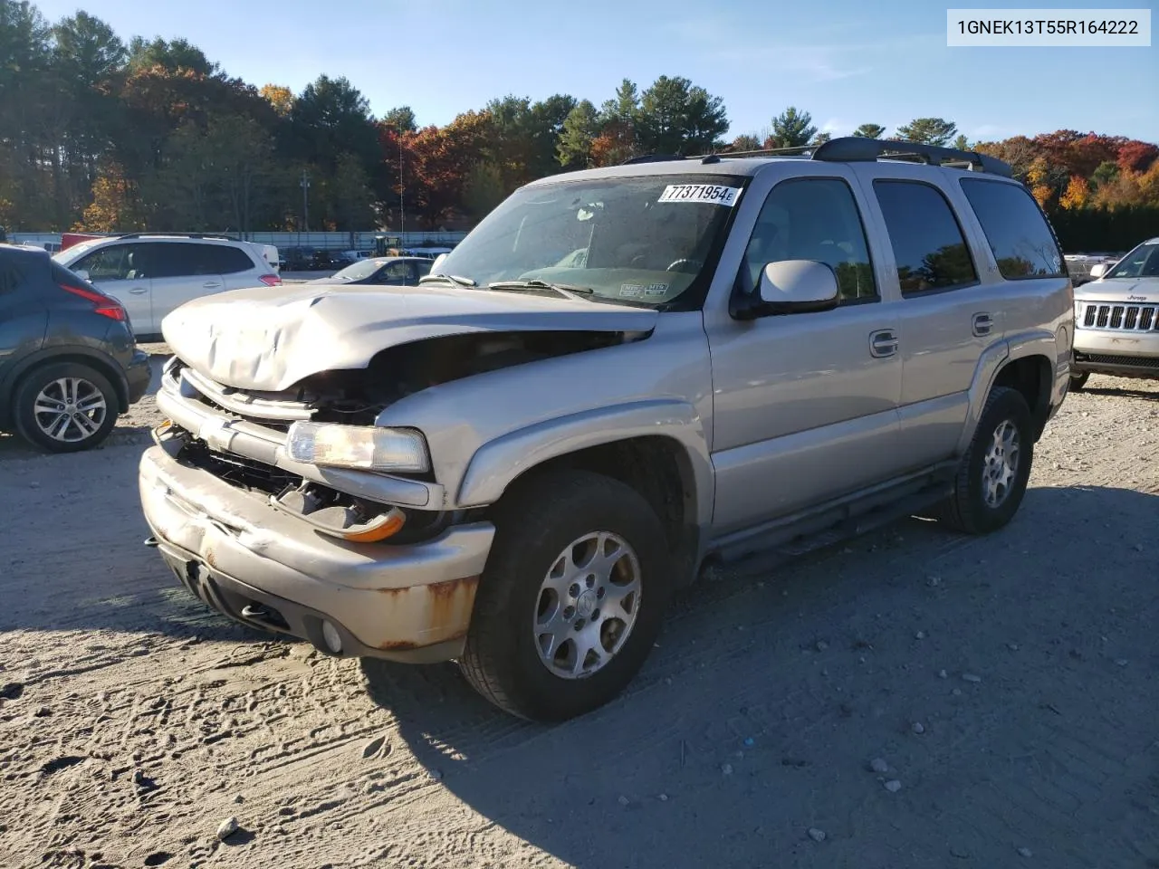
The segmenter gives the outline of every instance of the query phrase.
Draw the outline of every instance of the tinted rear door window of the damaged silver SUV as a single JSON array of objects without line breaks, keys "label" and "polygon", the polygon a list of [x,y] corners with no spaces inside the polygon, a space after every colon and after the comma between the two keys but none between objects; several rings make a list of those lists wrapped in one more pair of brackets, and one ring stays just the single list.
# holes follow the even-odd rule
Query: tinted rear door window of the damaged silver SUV
[{"label": "tinted rear door window of the damaged silver SUV", "polygon": [[962,227],[940,190],[914,181],[877,180],[873,187],[903,295],[977,283]]}]

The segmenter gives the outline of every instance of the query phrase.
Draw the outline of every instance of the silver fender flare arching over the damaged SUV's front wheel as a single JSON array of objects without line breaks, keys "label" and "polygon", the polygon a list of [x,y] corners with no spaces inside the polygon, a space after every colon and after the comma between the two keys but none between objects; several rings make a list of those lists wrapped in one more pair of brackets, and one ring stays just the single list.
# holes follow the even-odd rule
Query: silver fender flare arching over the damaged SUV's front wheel
[{"label": "silver fender flare arching over the damaged SUV's front wheel", "polygon": [[547,419],[490,440],[472,455],[458,491],[458,506],[494,504],[520,475],[545,461],[588,447],[637,437],[668,437],[681,447],[695,487],[697,514],[690,524],[708,525],[713,514],[712,459],[700,415],[690,403],[654,399]]}]

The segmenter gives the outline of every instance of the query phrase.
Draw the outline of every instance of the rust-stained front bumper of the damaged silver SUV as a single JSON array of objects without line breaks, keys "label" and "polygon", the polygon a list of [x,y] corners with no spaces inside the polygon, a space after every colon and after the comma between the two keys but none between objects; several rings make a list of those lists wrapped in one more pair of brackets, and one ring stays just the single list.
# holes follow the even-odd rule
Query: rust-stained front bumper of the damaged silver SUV
[{"label": "rust-stained front bumper of the damaged silver SUV", "polygon": [[462,651],[490,524],[411,546],[349,543],[180,465],[162,446],[141,457],[139,485],[166,562],[224,614],[315,645],[329,621],[343,655],[427,663]]}]

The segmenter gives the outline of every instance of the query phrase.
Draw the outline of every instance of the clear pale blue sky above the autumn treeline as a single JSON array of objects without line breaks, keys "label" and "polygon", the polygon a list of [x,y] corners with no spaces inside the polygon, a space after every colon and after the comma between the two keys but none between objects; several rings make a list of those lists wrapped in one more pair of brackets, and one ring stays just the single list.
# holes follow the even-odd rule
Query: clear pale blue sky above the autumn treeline
[{"label": "clear pale blue sky above the autumn treeline", "polygon": [[[300,90],[345,75],[377,114],[410,105],[445,124],[505,94],[597,105],[627,76],[684,75],[724,98],[729,136],[787,105],[833,134],[863,122],[954,121],[970,139],[1058,129],[1159,143],[1159,39],[1151,48],[950,49],[965,2],[823,0],[38,0],[123,38],[182,36],[231,74]],[[1095,8],[1093,2],[1052,8]],[[1145,2],[1123,6],[1147,7]],[[994,8],[997,2],[975,3]],[[1016,8],[1014,5],[1012,8]],[[1113,8],[1110,5],[1102,5]]]}]

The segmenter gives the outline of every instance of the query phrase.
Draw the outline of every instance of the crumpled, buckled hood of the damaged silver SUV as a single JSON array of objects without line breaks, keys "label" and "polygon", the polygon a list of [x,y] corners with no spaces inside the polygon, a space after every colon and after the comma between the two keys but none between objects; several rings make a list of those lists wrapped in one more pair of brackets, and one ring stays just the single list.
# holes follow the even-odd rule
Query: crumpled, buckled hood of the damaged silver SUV
[{"label": "crumpled, buckled hood of the damaged silver SUV", "polygon": [[219,384],[282,392],[323,371],[366,367],[380,350],[479,331],[648,331],[657,312],[527,292],[427,285],[283,284],[185,302],[166,343]]}]

